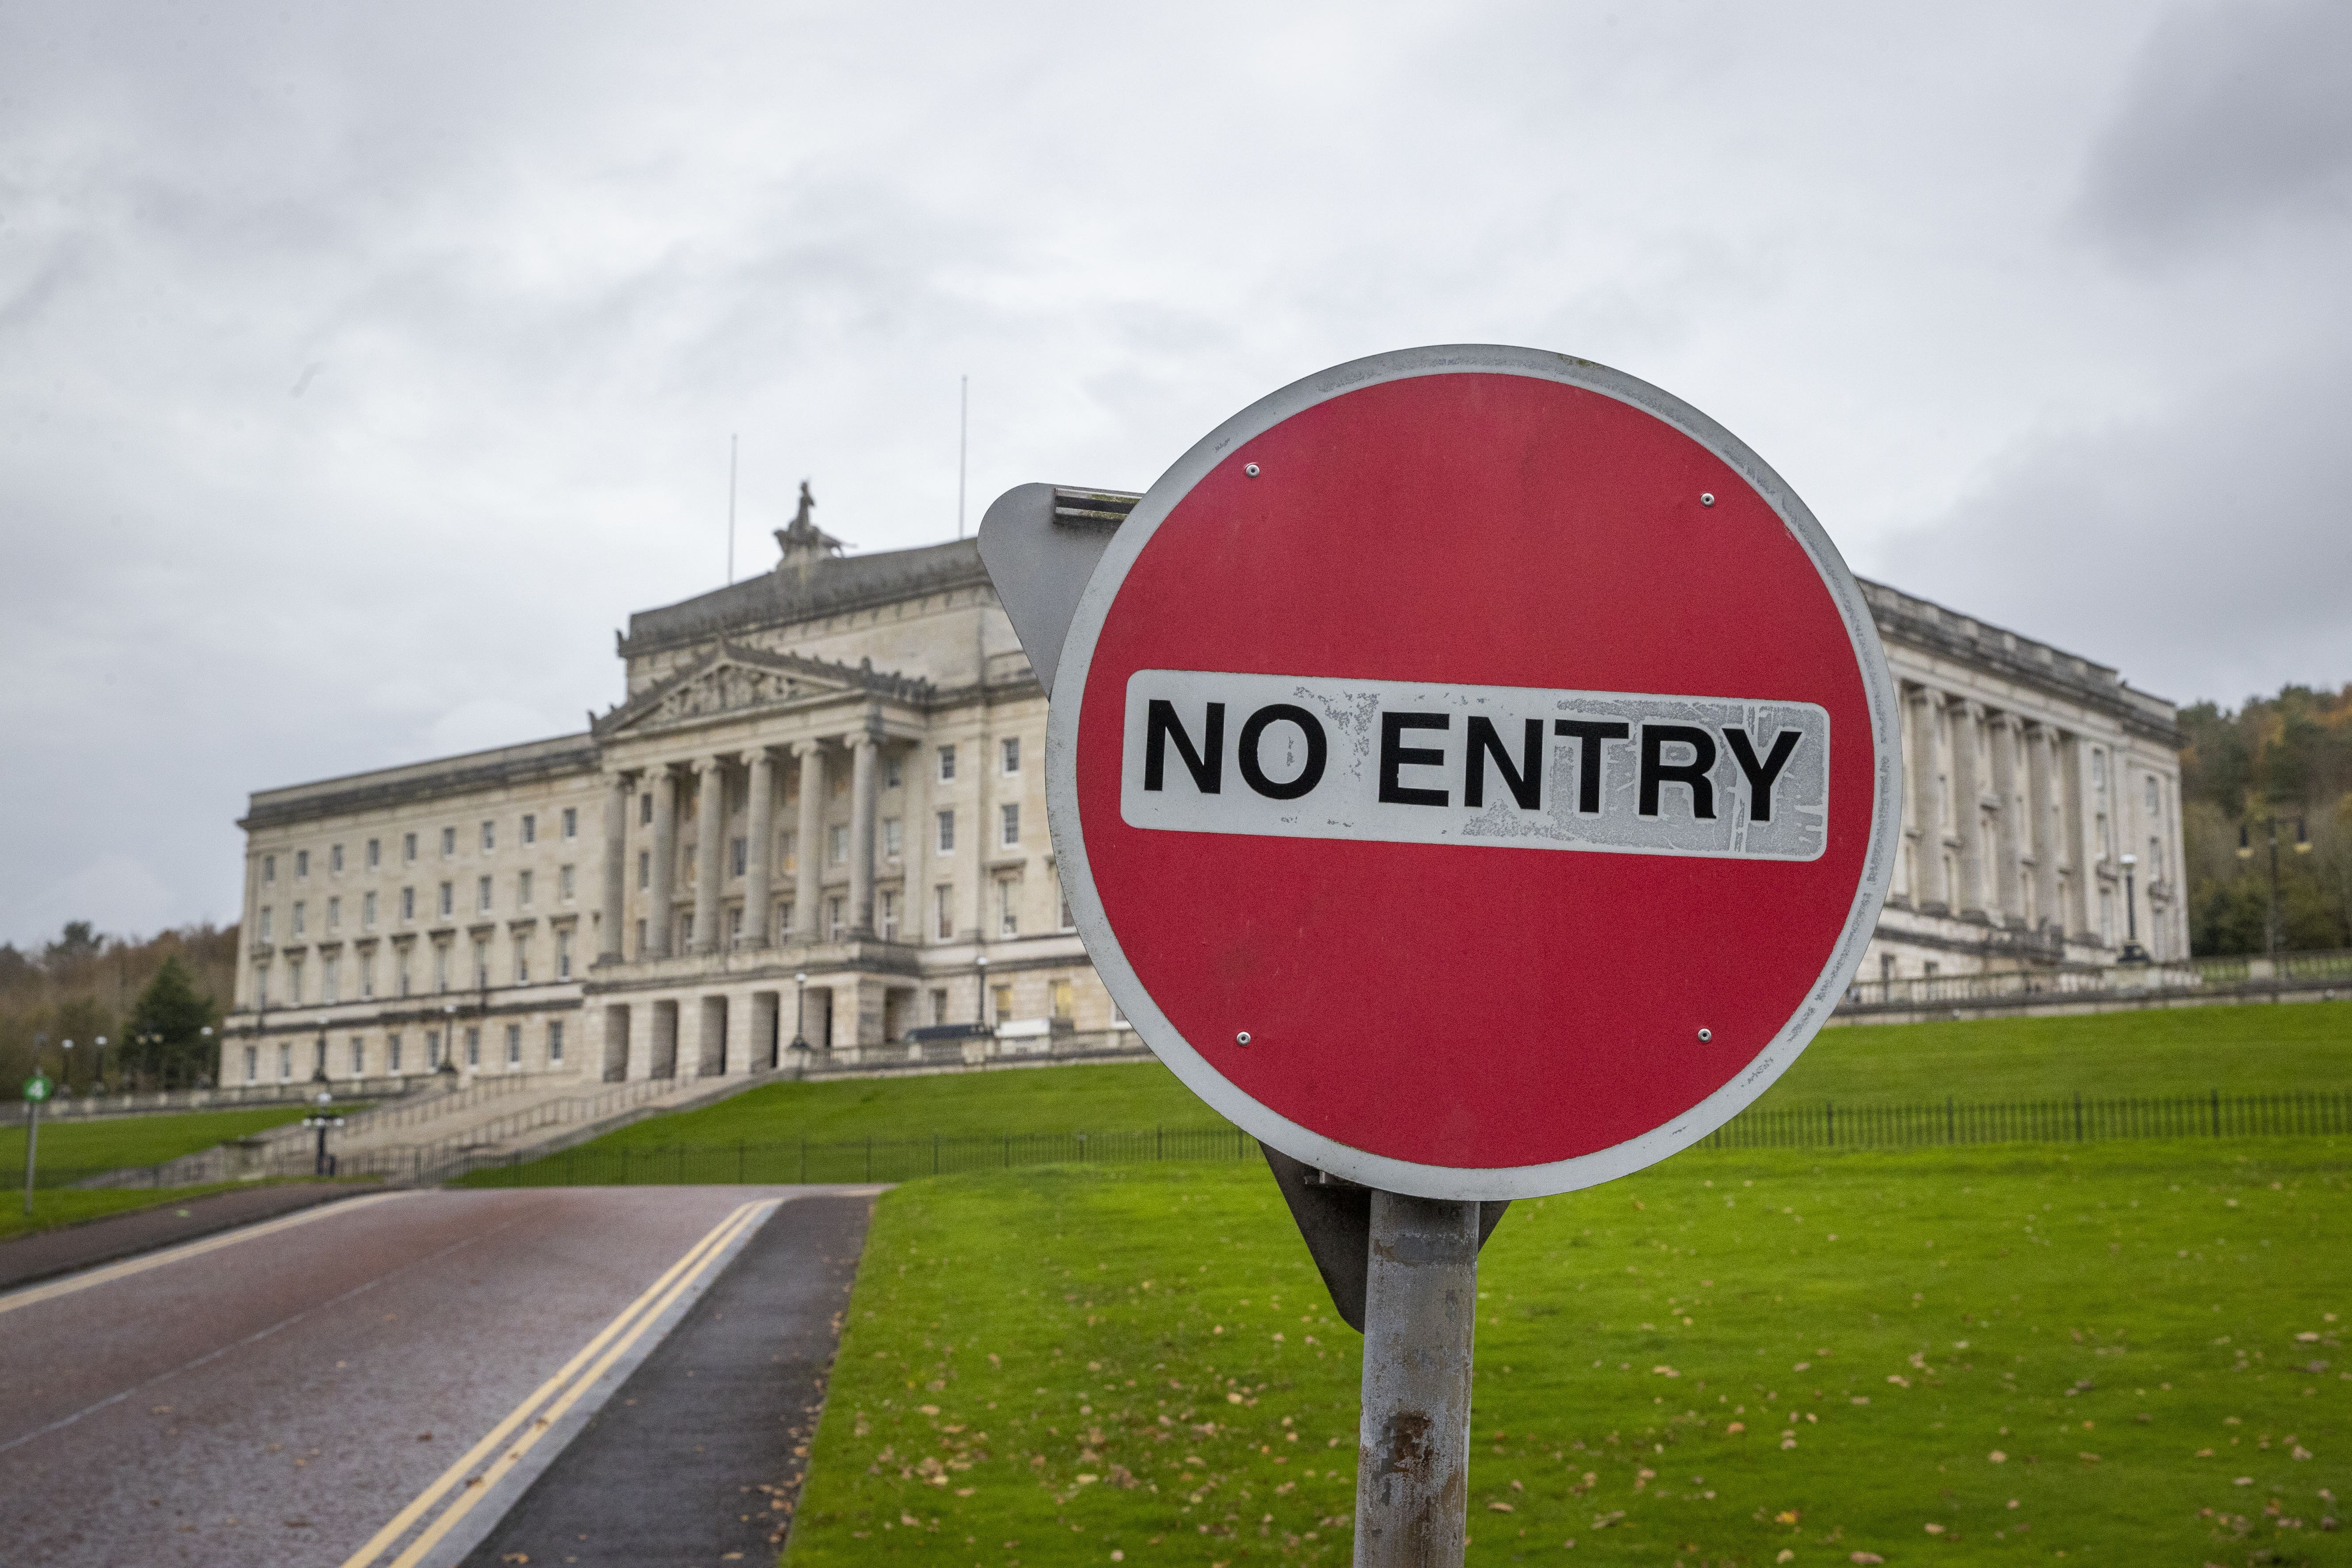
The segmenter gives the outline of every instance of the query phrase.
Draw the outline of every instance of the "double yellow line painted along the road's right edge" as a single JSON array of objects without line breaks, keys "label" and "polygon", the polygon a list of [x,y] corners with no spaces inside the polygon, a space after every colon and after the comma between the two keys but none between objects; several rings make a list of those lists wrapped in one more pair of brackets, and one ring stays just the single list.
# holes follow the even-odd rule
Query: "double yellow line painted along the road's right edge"
[{"label": "double yellow line painted along the road's right edge", "polygon": [[[581,1345],[579,1354],[557,1368],[553,1378],[532,1389],[532,1396],[520,1406],[508,1410],[508,1415],[489,1429],[489,1434],[466,1450],[456,1465],[445,1469],[433,1486],[416,1493],[416,1497],[393,1514],[376,1535],[360,1547],[343,1568],[369,1568],[393,1544],[416,1528],[416,1521],[433,1512],[442,1497],[454,1490],[456,1497],[440,1512],[440,1516],[426,1526],[426,1530],[407,1544],[407,1549],[390,1561],[390,1568],[416,1568],[433,1547],[456,1528],[456,1523],[473,1509],[475,1502],[489,1495],[489,1490],[503,1481],[522,1455],[546,1436],[555,1422],[564,1418],[581,1396],[597,1385],[597,1380],[614,1368],[614,1363],[630,1352],[630,1347],[644,1338],[644,1333],[661,1321],[661,1314],[677,1305],[687,1291],[703,1279],[727,1248],[755,1229],[760,1220],[774,1213],[776,1199],[764,1199],[755,1204],[743,1204],[724,1220],[710,1227],[701,1241],[687,1248],[687,1255],[668,1267],[668,1272],[656,1279],[644,1295],[633,1300],[621,1309],[621,1316],[604,1324],[593,1340]],[[529,1422],[529,1429],[520,1432]],[[513,1441],[508,1441],[513,1439]],[[503,1450],[501,1450],[503,1448]]]}]

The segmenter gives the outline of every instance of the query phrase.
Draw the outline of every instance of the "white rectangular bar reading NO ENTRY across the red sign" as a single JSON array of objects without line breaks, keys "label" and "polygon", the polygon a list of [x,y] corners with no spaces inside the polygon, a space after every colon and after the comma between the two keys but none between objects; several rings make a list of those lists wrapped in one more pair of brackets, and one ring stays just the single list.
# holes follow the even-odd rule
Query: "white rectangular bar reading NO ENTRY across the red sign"
[{"label": "white rectangular bar reading NO ENTRY across the red sign", "polygon": [[1813,860],[1813,703],[1216,670],[1127,682],[1131,827]]}]

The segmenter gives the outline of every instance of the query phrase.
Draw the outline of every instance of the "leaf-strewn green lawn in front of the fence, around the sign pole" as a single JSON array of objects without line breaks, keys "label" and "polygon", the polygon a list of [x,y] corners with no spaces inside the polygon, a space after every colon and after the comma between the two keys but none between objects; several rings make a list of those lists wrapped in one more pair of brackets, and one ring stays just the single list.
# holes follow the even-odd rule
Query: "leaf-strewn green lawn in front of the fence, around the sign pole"
[{"label": "leaf-strewn green lawn in front of the fence, around the sign pole", "polygon": [[[1689,1152],[1517,1204],[1470,1561],[2352,1563],[2347,1234],[2352,1140]],[[788,1561],[1345,1563],[1359,1347],[1263,1168],[903,1185]]]}]

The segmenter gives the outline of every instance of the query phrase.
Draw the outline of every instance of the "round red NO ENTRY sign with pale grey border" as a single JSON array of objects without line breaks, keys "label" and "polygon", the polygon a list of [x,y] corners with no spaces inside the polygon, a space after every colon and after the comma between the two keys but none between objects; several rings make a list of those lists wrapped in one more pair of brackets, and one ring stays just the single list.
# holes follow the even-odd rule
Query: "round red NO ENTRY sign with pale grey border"
[{"label": "round red NO ENTRY sign with pale grey border", "polygon": [[1117,531],[1054,689],[1112,997],[1369,1187],[1562,1192],[1703,1138],[1886,891],[1860,590],[1748,447],[1581,360],[1406,350],[1237,414]]}]

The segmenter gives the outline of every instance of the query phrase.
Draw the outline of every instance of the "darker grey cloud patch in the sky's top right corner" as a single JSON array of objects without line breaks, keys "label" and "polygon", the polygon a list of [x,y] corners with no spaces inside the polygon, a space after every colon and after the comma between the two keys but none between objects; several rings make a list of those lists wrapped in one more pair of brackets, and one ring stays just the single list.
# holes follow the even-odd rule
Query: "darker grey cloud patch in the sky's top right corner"
[{"label": "darker grey cloud patch in the sky's top right corner", "polygon": [[2157,26],[2091,150],[2079,219],[2150,261],[2352,214],[2352,7],[2263,0]]}]

